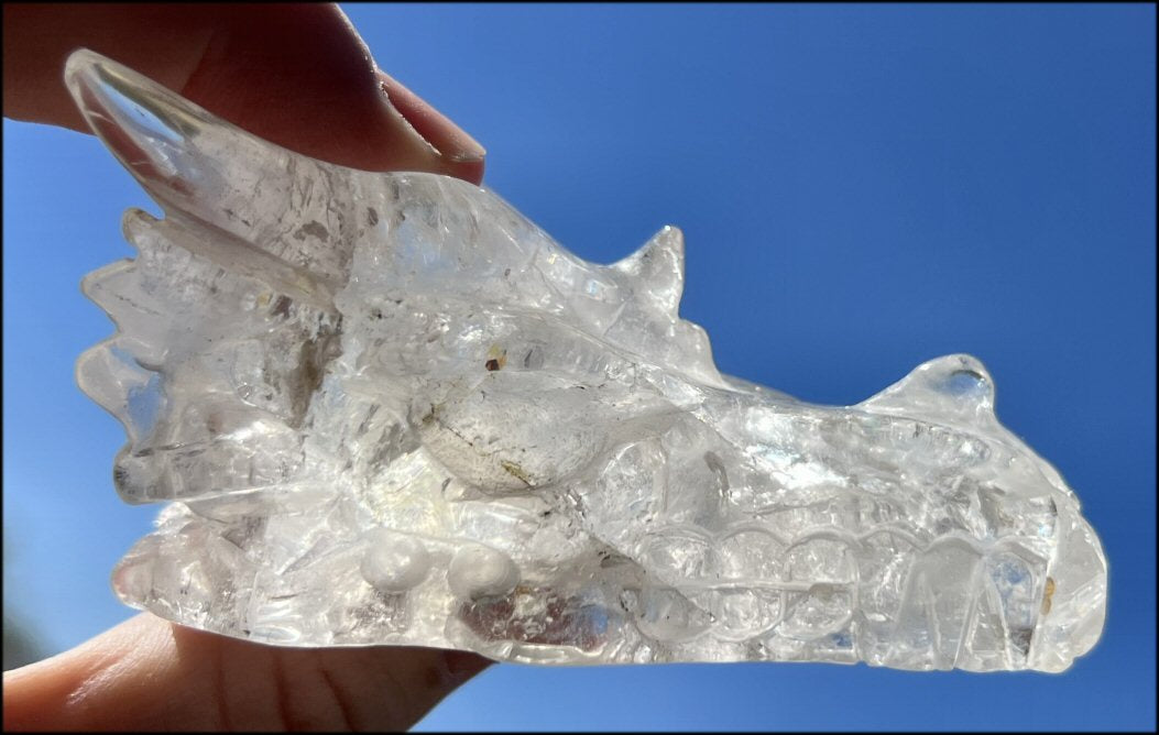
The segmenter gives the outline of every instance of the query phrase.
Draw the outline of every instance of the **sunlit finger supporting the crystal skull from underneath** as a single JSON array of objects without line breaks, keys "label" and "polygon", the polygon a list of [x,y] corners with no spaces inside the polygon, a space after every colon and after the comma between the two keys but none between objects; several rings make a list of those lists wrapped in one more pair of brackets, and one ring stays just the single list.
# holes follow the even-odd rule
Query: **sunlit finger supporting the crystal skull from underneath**
[{"label": "sunlit finger supporting the crystal skull from underneath", "polygon": [[143,613],[3,675],[6,730],[402,730],[490,662],[433,648],[279,648]]}]

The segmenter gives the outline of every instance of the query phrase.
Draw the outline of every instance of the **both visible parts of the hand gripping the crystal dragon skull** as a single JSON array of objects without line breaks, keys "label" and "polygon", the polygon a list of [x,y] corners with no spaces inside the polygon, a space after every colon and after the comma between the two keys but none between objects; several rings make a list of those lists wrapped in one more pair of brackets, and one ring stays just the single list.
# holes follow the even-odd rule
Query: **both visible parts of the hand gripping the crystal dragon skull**
[{"label": "both visible parts of the hand gripping the crystal dragon skull", "polygon": [[[80,46],[313,158],[483,176],[482,147],[378,70],[336,6],[6,3],[5,116],[89,132],[61,81]],[[430,648],[261,646],[141,613],[6,671],[3,727],[401,730],[489,663]]]}]

